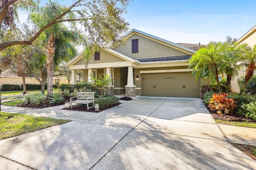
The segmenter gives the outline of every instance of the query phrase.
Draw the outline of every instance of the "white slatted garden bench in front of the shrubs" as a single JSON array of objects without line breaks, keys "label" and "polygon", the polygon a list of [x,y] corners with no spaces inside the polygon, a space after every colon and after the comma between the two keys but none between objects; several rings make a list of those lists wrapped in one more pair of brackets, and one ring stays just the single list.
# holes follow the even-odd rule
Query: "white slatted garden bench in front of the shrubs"
[{"label": "white slatted garden bench in front of the shrubs", "polygon": [[[77,100],[72,101],[73,98],[77,98]],[[80,103],[87,104],[87,110],[94,107],[94,92],[77,92],[76,97],[70,98],[70,104],[72,109],[72,103]],[[89,104],[92,103],[93,106],[89,107]]]}]

